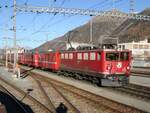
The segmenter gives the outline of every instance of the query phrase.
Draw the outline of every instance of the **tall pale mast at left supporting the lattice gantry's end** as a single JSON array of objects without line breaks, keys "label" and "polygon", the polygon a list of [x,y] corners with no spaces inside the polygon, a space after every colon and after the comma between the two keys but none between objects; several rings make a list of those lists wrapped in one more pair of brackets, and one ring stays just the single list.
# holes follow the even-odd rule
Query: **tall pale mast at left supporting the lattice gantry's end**
[{"label": "tall pale mast at left supporting the lattice gantry's end", "polygon": [[13,31],[14,31],[14,64],[13,72],[15,73],[16,63],[17,63],[17,48],[16,48],[16,0],[14,0],[14,15],[13,15]]}]

